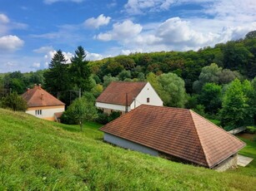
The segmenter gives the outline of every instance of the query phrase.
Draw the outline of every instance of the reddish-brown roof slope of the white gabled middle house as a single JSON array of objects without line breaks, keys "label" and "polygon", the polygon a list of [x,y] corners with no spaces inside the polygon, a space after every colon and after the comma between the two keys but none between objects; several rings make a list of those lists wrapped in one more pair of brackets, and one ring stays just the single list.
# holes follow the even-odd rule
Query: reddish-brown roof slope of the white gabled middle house
[{"label": "reddish-brown roof slope of the white gabled middle house", "polygon": [[147,82],[127,82],[127,81],[113,81],[98,96],[96,102],[126,105],[126,93],[128,93],[128,105],[133,103],[133,99],[138,96],[139,92],[143,90]]}]

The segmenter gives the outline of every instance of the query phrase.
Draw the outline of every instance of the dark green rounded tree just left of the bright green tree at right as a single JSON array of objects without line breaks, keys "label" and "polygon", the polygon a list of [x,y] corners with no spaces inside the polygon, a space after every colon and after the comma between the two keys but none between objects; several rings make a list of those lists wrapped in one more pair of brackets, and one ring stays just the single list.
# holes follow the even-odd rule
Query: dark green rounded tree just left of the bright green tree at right
[{"label": "dark green rounded tree just left of the bright green tree at right", "polygon": [[205,111],[210,114],[217,114],[221,108],[222,87],[214,83],[206,83],[198,97],[199,104],[202,104]]}]

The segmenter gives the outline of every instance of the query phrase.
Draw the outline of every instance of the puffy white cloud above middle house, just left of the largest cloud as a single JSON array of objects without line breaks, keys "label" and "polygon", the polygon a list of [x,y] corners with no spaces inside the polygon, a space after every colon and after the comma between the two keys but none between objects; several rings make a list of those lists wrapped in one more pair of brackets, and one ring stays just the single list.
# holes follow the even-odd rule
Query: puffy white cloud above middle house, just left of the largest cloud
[{"label": "puffy white cloud above middle house, just left of the largest cloud", "polygon": [[121,40],[136,37],[143,27],[140,24],[135,24],[130,20],[113,24],[113,30],[106,33],[99,33],[97,38],[101,41]]}]

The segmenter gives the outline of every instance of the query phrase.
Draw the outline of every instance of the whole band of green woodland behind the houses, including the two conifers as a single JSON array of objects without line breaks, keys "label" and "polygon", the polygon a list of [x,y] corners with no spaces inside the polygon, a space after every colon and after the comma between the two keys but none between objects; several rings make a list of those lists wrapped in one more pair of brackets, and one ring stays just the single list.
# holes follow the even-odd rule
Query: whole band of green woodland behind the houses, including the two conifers
[{"label": "whole band of green woodland behind the houses, including the two conifers", "polygon": [[66,62],[59,50],[47,70],[0,75],[0,96],[42,84],[70,105],[80,90],[97,97],[111,81],[149,81],[164,105],[195,110],[220,120],[227,130],[256,121],[256,31],[198,51],[132,53],[101,61],[86,61],[78,47]]}]

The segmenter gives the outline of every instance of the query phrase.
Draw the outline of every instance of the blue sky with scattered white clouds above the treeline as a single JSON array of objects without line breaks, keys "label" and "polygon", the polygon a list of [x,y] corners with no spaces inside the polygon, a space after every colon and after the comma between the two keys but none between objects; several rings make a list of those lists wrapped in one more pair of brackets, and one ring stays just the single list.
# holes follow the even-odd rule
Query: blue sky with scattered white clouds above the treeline
[{"label": "blue sky with scattered white clouds above the treeline", "polygon": [[188,51],[256,30],[255,0],[0,0],[0,73],[48,68],[78,46],[88,60]]}]

